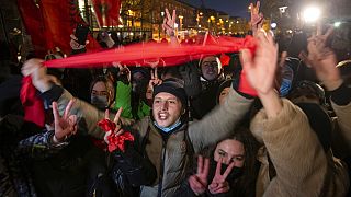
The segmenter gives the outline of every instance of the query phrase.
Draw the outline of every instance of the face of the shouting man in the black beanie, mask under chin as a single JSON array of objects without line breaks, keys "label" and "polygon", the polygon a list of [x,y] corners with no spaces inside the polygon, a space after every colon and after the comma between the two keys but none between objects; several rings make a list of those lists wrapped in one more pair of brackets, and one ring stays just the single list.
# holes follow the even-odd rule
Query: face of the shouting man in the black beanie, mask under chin
[{"label": "face of the shouting man in the black beanie, mask under chin", "polygon": [[154,97],[152,114],[160,127],[169,127],[180,118],[181,101],[173,94],[160,92]]}]

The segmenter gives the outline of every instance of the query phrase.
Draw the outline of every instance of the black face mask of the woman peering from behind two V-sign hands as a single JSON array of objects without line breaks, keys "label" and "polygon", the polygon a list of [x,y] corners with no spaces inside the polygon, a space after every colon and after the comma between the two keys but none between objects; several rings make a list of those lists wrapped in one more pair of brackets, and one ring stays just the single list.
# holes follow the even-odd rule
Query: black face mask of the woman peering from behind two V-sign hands
[{"label": "black face mask of the woman peering from behind two V-sign hands", "polygon": [[[224,174],[224,172],[227,170],[229,165],[226,164],[220,164],[220,174]],[[208,176],[207,176],[207,183],[211,183],[213,177],[215,176],[216,173],[216,167],[217,167],[217,162],[214,159],[211,159],[210,161],[210,171],[208,171]],[[226,181],[231,183],[235,179],[239,178],[242,175],[244,171],[242,167],[237,167],[234,166],[227,176]]]}]

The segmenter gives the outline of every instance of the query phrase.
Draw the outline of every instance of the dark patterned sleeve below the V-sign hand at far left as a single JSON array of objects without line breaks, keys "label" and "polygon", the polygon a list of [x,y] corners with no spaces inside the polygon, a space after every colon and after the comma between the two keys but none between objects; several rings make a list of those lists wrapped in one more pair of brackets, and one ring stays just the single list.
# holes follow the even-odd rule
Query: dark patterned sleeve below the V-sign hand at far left
[{"label": "dark patterned sleeve below the V-sign hand at far left", "polygon": [[45,159],[49,155],[58,152],[64,147],[68,144],[68,142],[61,142],[58,144],[54,144],[52,139],[54,136],[54,130],[41,132],[34,136],[31,136],[24,140],[19,142],[16,152],[20,155],[24,155],[26,158],[33,159]]}]

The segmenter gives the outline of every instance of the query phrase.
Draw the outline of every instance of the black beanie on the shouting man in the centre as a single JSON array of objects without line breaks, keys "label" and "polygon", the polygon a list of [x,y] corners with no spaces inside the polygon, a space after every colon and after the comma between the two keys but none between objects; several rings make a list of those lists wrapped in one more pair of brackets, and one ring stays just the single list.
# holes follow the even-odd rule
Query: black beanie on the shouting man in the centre
[{"label": "black beanie on the shouting man in the centre", "polygon": [[160,85],[156,85],[154,88],[152,99],[160,92],[167,92],[174,95],[181,101],[183,108],[188,107],[188,96],[181,80],[167,79]]}]

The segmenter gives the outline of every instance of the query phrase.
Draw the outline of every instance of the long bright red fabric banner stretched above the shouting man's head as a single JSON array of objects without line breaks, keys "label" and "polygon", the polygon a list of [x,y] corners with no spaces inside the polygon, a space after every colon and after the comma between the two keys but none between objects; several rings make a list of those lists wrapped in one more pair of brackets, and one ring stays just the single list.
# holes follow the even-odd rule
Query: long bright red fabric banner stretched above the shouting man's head
[{"label": "long bright red fabric banner stretched above the shouting man's head", "polygon": [[98,53],[71,56],[65,59],[45,61],[49,68],[87,68],[102,67],[106,63],[121,62],[127,66],[149,66],[148,60],[161,58],[166,66],[177,66],[204,55],[235,53],[240,49],[256,50],[256,40],[251,36],[246,38],[219,37],[216,44],[193,46],[169,46],[154,43],[135,44],[123,48],[114,48]]}]

